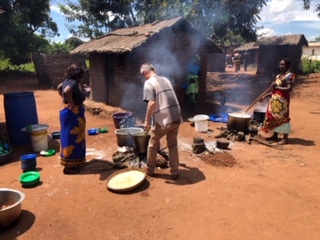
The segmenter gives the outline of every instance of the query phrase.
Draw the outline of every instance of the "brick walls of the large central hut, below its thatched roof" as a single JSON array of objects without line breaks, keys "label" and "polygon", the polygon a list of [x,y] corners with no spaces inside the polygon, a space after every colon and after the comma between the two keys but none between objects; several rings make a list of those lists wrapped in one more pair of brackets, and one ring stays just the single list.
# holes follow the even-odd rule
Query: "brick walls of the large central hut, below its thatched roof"
[{"label": "brick walls of the large central hut, below its thatched roof", "polygon": [[[173,35],[172,35],[173,34]],[[158,74],[173,84],[182,108],[186,102],[186,70],[194,54],[200,56],[199,104],[206,100],[207,51],[199,39],[188,32],[159,34],[141,47],[125,54],[91,53],[90,76],[92,100],[120,107],[144,115],[146,103],[142,101],[144,79],[140,74],[142,63],[152,63]],[[172,38],[172,39],[170,39]],[[161,49],[164,42],[168,45]],[[196,44],[195,44],[196,43]]]}]

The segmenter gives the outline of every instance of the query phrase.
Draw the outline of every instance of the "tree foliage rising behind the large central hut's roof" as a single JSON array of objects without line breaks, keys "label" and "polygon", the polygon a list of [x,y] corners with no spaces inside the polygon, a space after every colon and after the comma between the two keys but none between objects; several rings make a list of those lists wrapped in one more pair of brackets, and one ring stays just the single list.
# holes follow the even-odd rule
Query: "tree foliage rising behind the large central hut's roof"
[{"label": "tree foliage rising behind the large central hut's roof", "polygon": [[214,39],[239,35],[256,40],[255,24],[268,0],[79,0],[60,5],[67,21],[79,21],[71,33],[95,38],[121,27],[132,27],[177,16]]}]

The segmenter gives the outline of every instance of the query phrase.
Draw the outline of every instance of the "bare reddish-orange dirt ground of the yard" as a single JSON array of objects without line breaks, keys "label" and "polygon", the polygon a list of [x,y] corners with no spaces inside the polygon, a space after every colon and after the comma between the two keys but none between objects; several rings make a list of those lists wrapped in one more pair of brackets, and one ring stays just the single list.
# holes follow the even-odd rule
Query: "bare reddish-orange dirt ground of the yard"
[{"label": "bare reddish-orange dirt ground of the yard", "polygon": [[[208,73],[208,105],[199,113],[215,114],[246,109],[272,81],[254,72]],[[180,178],[172,181],[168,169],[157,169],[141,186],[115,193],[106,187],[117,169],[93,163],[80,174],[64,175],[59,163],[60,97],[37,84],[35,77],[0,76],[3,93],[33,91],[39,123],[48,124],[49,148],[57,154],[37,156],[39,185],[23,188],[20,156],[32,146],[14,147],[10,162],[0,166],[0,187],[26,194],[17,222],[0,230],[0,239],[319,239],[320,238],[320,74],[298,76],[291,100],[292,133],[289,144],[268,147],[253,141],[235,141],[227,154],[234,164],[215,165],[192,153],[193,137],[214,144],[225,123],[209,122],[207,133],[196,132],[184,113],[179,132]],[[226,97],[225,106],[219,99]],[[140,101],[139,99],[137,101]],[[87,101],[87,129],[109,132],[86,136],[87,160],[112,161],[118,149],[111,114],[114,109]],[[252,113],[252,109],[250,110]],[[249,111],[249,112],[250,112]],[[5,135],[5,111],[0,108]],[[164,143],[165,146],[165,143]],[[159,157],[161,158],[161,157]]]}]

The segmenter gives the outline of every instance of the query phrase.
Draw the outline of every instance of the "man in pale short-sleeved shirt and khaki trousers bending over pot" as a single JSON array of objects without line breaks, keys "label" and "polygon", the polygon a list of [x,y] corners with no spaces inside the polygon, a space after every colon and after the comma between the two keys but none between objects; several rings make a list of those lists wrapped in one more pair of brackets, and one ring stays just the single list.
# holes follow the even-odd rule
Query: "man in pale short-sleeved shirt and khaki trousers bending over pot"
[{"label": "man in pale short-sleeved shirt and khaki trousers bending over pot", "polygon": [[179,126],[182,123],[180,104],[171,82],[165,77],[158,76],[152,64],[142,64],[140,72],[146,79],[143,100],[148,103],[144,128],[150,130],[145,171],[149,176],[154,175],[160,139],[166,136],[171,177],[176,180],[179,176],[177,137]]}]

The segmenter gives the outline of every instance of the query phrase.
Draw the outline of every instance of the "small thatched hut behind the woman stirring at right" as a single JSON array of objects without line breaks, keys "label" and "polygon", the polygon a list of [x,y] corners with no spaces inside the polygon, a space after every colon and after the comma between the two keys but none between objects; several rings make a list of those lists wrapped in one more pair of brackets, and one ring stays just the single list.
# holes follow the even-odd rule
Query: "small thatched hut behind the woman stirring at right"
[{"label": "small thatched hut behind the woman stirring at right", "polygon": [[256,44],[259,46],[257,73],[279,73],[281,58],[289,58],[291,71],[300,73],[303,46],[308,46],[303,34],[263,37]]}]

